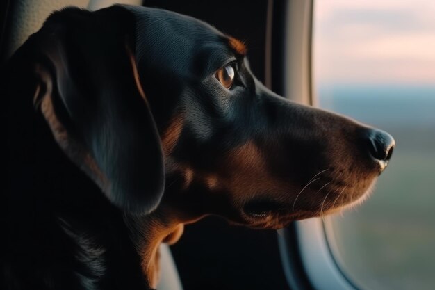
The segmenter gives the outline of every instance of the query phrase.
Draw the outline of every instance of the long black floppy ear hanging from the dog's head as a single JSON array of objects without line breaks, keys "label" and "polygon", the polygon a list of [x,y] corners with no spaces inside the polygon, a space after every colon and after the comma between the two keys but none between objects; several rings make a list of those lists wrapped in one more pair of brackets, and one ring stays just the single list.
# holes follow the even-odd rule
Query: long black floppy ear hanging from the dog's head
[{"label": "long black floppy ear hanging from the dog's head", "polygon": [[133,17],[123,8],[51,15],[34,53],[41,108],[56,141],[118,207],[147,214],[164,190],[161,142],[139,81]]}]

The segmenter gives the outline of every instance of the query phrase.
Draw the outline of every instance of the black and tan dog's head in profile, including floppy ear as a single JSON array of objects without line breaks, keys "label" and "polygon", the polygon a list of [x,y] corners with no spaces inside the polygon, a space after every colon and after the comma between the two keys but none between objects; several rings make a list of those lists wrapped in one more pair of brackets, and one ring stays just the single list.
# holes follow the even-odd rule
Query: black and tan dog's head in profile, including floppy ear
[{"label": "black and tan dog's head in profile, including floppy ear", "polygon": [[60,147],[125,211],[278,228],[363,199],[393,138],[275,95],[246,53],[197,19],[113,6],[55,13],[15,58]]}]

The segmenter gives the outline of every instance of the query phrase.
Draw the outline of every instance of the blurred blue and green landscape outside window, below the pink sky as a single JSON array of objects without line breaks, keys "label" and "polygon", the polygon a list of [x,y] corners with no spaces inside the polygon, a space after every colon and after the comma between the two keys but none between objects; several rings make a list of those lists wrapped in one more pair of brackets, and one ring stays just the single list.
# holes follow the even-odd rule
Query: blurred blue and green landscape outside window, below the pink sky
[{"label": "blurred blue and green landscape outside window, below the pink sky", "polygon": [[318,105],[388,131],[371,198],[327,218],[338,264],[363,289],[435,289],[435,85],[323,86]]}]

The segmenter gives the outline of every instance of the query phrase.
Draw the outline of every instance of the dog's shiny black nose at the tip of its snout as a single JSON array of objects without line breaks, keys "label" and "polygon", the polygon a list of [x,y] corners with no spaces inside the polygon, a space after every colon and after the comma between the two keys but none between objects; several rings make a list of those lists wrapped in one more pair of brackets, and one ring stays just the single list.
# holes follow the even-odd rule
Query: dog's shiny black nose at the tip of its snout
[{"label": "dog's shiny black nose at the tip of its snout", "polygon": [[384,170],[388,164],[388,161],[393,154],[393,149],[395,146],[395,141],[393,137],[379,129],[370,129],[368,132],[368,149],[370,156],[374,159],[381,167],[381,172]]}]

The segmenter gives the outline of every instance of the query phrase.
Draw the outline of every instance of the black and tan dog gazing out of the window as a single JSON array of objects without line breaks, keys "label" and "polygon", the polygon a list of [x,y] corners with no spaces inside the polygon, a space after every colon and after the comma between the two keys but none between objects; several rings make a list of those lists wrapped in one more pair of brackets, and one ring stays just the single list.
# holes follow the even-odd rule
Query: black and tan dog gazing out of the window
[{"label": "black and tan dog gazing out of the window", "polygon": [[279,229],[364,200],[393,138],[275,95],[246,54],[166,10],[52,14],[1,77],[1,289],[152,289],[204,216]]}]

